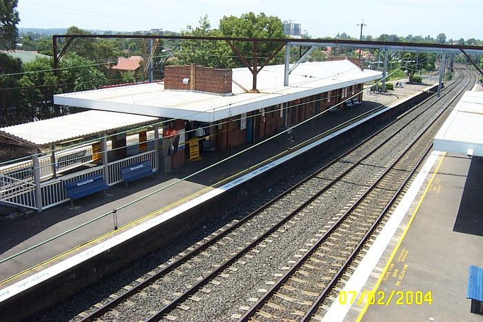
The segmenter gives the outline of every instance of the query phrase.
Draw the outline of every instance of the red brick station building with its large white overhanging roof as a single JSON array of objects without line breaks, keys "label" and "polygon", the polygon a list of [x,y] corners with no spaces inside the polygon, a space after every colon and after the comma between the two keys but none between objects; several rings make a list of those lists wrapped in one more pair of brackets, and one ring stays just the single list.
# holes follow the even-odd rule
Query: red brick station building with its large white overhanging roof
[{"label": "red brick station building with its large white overhanging roof", "polygon": [[[56,104],[163,118],[165,130],[176,130],[179,141],[170,153],[172,167],[182,165],[184,143],[201,125],[208,139],[204,150],[227,150],[259,141],[347,99],[362,101],[363,83],[381,72],[362,70],[348,59],[301,63],[284,86],[284,65],[266,66],[253,76],[246,68],[166,66],[165,79],[55,95]],[[166,152],[165,152],[166,154]]]}]

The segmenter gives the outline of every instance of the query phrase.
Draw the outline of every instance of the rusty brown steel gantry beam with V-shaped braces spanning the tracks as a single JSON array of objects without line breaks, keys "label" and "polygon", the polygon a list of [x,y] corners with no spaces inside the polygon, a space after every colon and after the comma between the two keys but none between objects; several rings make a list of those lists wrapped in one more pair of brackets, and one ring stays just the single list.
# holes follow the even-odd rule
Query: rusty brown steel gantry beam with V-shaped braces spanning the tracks
[{"label": "rusty brown steel gantry beam with V-shaped braces spanning the tracks", "polygon": [[[57,39],[67,38],[68,41],[63,46],[61,53],[57,54]],[[284,48],[286,44],[295,46],[342,46],[349,48],[371,48],[377,50],[388,50],[391,52],[435,52],[440,54],[460,54],[460,52],[469,54],[483,54],[483,46],[460,46],[446,45],[440,43],[404,43],[396,41],[359,41],[346,39],[292,39],[292,38],[237,38],[237,37],[200,37],[200,36],[159,36],[150,34],[55,34],[52,36],[54,50],[54,68],[58,74],[59,60],[68,49],[70,43],[75,38],[133,38],[133,39],[177,39],[177,40],[208,40],[208,41],[226,41],[233,52],[242,60],[244,65],[250,69],[253,74],[253,91],[257,92],[257,74],[264,66],[266,66],[275,55]],[[233,46],[233,41],[248,41],[253,43],[253,63],[249,63],[245,57]],[[280,43],[281,46],[266,59],[264,65],[258,68],[258,43]],[[471,60],[472,61],[472,60]],[[472,61],[475,65],[474,61]],[[480,69],[479,69],[480,70]],[[481,70],[480,70],[481,72]],[[483,75],[483,74],[482,74]]]}]

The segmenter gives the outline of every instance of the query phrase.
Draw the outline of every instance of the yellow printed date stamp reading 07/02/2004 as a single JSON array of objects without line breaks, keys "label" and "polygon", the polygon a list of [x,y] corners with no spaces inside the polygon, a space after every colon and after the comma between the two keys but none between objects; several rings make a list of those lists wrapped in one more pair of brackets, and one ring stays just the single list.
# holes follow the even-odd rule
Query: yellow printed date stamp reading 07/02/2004
[{"label": "yellow printed date stamp reading 07/02/2004", "polygon": [[[358,293],[355,291],[344,291],[339,292],[339,303],[342,305],[349,304],[353,305],[357,299]],[[364,301],[366,299],[366,301]],[[433,303],[433,294],[431,291],[397,291],[392,290],[391,292],[385,291],[366,291],[363,290],[360,293],[359,299],[357,299],[357,305],[386,305],[391,303],[395,305],[431,305]]]}]

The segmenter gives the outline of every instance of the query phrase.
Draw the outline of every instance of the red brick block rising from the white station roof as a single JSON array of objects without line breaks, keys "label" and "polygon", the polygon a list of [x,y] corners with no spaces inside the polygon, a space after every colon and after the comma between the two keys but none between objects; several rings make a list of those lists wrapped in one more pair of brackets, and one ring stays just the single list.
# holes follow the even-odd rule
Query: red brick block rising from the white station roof
[{"label": "red brick block rising from the white station roof", "polygon": [[[199,92],[212,92],[217,94],[231,93],[232,70],[193,66],[194,79],[191,72],[192,66],[166,66],[164,68],[164,88],[166,90],[194,90]],[[188,78],[187,84],[183,79]]]}]

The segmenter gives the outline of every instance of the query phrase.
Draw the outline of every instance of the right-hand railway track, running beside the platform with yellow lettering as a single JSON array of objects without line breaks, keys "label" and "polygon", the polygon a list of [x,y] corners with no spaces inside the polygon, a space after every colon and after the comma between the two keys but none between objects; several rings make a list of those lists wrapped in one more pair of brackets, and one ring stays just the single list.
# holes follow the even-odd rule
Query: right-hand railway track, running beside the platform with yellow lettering
[{"label": "right-hand railway track, running beside the platform with yellow lettering", "polygon": [[[469,83],[471,81],[464,87],[466,88]],[[439,129],[433,126],[438,120],[441,121],[435,119],[426,126],[424,132],[406,151],[391,163],[348,210],[343,212],[334,225],[324,232],[315,245],[242,316],[240,321],[273,321],[287,318],[288,316],[279,316],[280,310],[291,312],[290,318],[300,321],[322,319],[330,303],[344,287],[344,279],[350,277],[347,271],[355,270],[359,262],[357,256],[364,256],[366,249],[371,245],[369,240],[377,237],[380,232],[377,228],[386,223],[388,213],[395,208],[398,196],[431,150],[432,144],[428,145],[427,142],[432,141]],[[388,194],[388,191],[394,193]],[[357,237],[360,234],[364,234],[362,239]],[[350,255],[347,257],[337,256],[348,252]],[[328,272],[336,274],[331,277]]]}]

